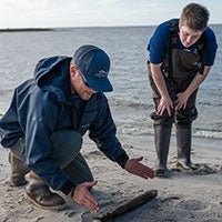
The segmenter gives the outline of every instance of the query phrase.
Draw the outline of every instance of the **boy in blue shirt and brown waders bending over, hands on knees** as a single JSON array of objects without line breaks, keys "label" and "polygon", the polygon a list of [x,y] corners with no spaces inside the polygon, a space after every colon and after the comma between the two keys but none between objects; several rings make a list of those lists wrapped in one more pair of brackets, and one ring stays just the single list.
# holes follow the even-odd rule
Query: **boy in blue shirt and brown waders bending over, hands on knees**
[{"label": "boy in blue shirt and brown waders bending over, hands on knees", "polygon": [[190,3],[180,19],[161,23],[150,39],[149,73],[155,111],[155,172],[169,176],[167,168],[172,123],[175,123],[178,165],[191,169],[192,121],[196,119],[199,85],[214,63],[216,40],[208,27],[205,7]]}]

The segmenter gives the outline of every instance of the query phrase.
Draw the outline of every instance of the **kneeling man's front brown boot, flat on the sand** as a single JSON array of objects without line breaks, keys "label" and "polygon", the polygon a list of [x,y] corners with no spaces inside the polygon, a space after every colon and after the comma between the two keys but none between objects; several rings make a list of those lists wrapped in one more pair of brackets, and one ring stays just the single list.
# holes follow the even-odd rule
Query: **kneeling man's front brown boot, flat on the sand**
[{"label": "kneeling man's front brown boot, flat on the sand", "polygon": [[41,179],[33,179],[27,174],[29,184],[26,189],[26,196],[38,208],[44,210],[62,210],[65,201],[62,196],[50,191],[49,186]]}]

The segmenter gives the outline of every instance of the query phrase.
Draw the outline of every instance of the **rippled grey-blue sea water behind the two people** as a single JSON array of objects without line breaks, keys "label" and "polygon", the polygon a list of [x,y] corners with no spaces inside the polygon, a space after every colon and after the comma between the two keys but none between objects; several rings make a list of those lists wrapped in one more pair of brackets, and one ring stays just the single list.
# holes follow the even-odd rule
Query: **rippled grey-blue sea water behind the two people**
[{"label": "rippled grey-blue sea water behind the two people", "polygon": [[[222,139],[222,24],[211,26],[218,38],[215,64],[201,84],[193,123],[194,137]],[[154,27],[69,28],[42,32],[0,32],[0,115],[11,101],[14,87],[29,79],[38,60],[72,56],[81,44],[95,44],[111,58],[107,93],[118,133],[153,134],[153,111],[147,71],[147,44]]]}]

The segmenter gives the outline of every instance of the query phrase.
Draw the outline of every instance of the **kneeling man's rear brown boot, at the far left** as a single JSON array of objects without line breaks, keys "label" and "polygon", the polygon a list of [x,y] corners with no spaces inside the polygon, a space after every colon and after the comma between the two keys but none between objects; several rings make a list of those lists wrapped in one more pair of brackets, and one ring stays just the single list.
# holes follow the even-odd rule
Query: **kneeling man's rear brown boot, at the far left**
[{"label": "kneeling man's rear brown boot, at the far left", "polygon": [[24,161],[19,160],[11,151],[9,152],[11,164],[10,185],[20,186],[27,183],[24,175],[30,171]]}]

